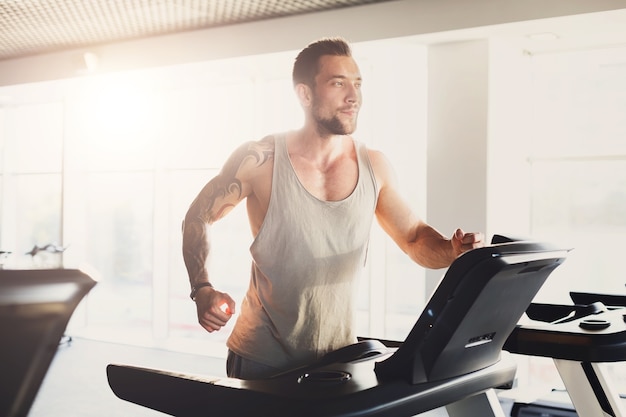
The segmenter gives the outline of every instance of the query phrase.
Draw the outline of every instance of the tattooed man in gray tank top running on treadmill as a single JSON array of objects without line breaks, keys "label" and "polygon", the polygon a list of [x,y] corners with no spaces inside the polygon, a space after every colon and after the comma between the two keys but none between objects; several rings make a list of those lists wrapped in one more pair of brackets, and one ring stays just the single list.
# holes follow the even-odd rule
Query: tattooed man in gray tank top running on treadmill
[{"label": "tattooed man in gray tank top running on treadmill", "polygon": [[448,239],[416,217],[383,154],[350,136],[361,81],[344,40],[307,46],[293,68],[303,127],[239,147],[185,216],[183,256],[192,299],[199,323],[213,332],[236,305],[209,283],[209,229],[246,200],[253,261],[227,342],[231,377],[268,377],[356,341],[353,295],[374,216],[426,268],[447,267],[483,245],[480,233],[457,229]]}]

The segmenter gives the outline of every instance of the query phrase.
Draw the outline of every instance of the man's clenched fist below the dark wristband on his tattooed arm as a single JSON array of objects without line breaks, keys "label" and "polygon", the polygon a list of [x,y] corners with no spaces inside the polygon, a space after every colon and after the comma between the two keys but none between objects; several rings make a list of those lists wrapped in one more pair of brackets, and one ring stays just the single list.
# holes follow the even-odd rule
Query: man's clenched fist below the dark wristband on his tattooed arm
[{"label": "man's clenched fist below the dark wristband on his tattooed arm", "polygon": [[235,314],[235,301],[230,295],[211,287],[203,287],[196,294],[198,323],[208,332],[220,330]]}]

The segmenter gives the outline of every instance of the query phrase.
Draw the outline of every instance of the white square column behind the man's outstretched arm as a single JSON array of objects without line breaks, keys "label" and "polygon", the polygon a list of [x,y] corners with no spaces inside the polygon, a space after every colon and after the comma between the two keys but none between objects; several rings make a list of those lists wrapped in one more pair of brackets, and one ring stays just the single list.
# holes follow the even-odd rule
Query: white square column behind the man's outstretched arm
[{"label": "white square column behind the man's outstretched arm", "polygon": [[427,221],[447,236],[487,227],[488,70],[487,40],[429,47]]}]

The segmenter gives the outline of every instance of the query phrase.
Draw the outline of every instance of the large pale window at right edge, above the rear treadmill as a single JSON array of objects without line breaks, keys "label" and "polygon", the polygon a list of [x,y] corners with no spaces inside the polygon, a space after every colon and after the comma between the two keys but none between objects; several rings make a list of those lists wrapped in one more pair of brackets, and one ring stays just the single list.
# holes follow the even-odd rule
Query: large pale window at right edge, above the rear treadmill
[{"label": "large pale window at right edge, above the rear treadmill", "polygon": [[532,58],[531,228],[575,248],[543,300],[624,294],[626,48]]}]

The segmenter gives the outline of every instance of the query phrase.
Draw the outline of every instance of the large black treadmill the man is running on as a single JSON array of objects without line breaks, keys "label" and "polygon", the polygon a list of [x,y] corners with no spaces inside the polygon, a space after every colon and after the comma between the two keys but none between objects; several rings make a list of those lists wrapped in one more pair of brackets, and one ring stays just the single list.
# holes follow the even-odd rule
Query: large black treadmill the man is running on
[{"label": "large black treadmill the man is running on", "polygon": [[174,416],[502,417],[493,388],[516,366],[507,337],[567,250],[510,242],[460,256],[402,343],[374,339],[273,378],[240,380],[123,364],[107,366],[119,398]]}]

